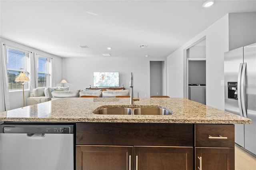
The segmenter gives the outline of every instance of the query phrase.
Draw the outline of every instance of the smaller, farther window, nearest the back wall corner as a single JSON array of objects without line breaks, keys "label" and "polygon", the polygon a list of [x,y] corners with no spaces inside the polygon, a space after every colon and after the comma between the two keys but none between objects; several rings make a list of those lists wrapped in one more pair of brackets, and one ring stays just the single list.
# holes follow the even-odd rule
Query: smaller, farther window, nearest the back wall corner
[{"label": "smaller, farther window, nearest the back wall corner", "polygon": [[51,58],[38,56],[37,87],[51,87]]}]

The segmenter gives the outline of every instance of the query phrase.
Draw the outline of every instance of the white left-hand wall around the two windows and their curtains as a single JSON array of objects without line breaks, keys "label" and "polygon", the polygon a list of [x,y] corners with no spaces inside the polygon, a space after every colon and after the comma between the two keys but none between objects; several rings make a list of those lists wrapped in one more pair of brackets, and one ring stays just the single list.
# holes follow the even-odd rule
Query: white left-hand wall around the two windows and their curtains
[{"label": "white left-hand wall around the two windows and their curtains", "polygon": [[[34,49],[32,47],[28,47],[26,45],[23,45],[23,44],[20,44],[17,42],[13,42],[11,40],[7,40],[5,38],[1,38],[0,40],[1,40],[1,42],[5,43],[6,45],[10,45],[12,47],[24,49],[24,50],[31,51],[31,52],[36,52],[37,54],[43,55],[46,57],[51,57],[54,60],[54,66],[53,66],[53,69],[54,69],[53,71],[55,73],[54,81],[56,81],[56,82],[61,81],[60,80],[61,79],[60,77],[62,75],[62,72],[61,72],[62,71],[62,58],[61,57],[46,53],[44,51],[40,51],[38,49]],[[53,85],[53,86],[55,86],[55,85]],[[29,95],[30,95],[29,90],[25,90],[24,91],[25,106],[26,106],[26,102],[27,102],[26,99],[29,97]],[[10,109],[16,109],[16,108],[23,106],[22,90],[10,91],[9,96],[10,96]]]}]

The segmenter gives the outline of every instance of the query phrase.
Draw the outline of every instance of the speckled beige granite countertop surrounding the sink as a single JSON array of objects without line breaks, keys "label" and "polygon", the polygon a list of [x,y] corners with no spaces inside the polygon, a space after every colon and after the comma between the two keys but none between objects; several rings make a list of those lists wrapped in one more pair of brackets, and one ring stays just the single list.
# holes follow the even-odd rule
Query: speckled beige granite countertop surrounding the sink
[{"label": "speckled beige granite countertop surrounding the sink", "polygon": [[[62,98],[0,113],[0,121],[249,124],[250,119],[183,98]],[[97,115],[102,107],[161,107],[172,115]]]}]

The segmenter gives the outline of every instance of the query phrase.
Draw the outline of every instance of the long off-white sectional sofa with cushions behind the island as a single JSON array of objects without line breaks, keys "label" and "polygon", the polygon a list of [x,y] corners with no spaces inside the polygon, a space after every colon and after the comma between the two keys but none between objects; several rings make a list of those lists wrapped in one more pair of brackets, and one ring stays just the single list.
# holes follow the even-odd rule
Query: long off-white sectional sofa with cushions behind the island
[{"label": "long off-white sectional sofa with cushions behind the island", "polygon": [[50,100],[60,99],[63,97],[81,97],[84,95],[97,97],[116,97],[129,96],[128,90],[69,90],[69,87],[39,87],[32,90],[30,97],[27,99],[27,105],[35,105]]}]

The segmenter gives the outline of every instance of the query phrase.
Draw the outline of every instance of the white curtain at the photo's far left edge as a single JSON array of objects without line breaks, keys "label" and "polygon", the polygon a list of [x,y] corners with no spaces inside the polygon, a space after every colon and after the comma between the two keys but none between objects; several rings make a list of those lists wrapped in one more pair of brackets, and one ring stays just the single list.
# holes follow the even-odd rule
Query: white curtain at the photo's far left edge
[{"label": "white curtain at the photo's far left edge", "polygon": [[0,51],[0,112],[10,110],[8,75],[6,62],[6,47],[1,42]]}]

